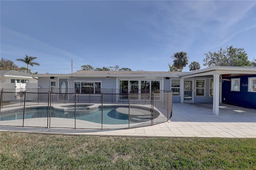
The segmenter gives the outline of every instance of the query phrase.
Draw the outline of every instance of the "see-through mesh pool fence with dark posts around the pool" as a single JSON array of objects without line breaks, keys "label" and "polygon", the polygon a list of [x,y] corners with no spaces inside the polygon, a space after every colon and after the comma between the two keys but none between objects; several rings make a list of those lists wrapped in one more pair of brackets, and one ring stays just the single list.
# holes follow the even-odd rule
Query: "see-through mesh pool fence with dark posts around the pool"
[{"label": "see-through mesh pool fence with dark posts around the pool", "polygon": [[[17,93],[12,89],[1,89],[0,126],[124,129],[156,125],[167,122],[172,116],[172,92],[169,91],[124,93],[122,89],[102,89],[101,93],[81,94],[68,93],[69,90],[74,91],[67,89],[65,93],[56,93],[56,89],[26,89]],[[11,95],[16,96],[15,101],[8,100]],[[53,113],[56,107],[62,107],[62,112]],[[110,113],[109,107],[119,108],[121,113],[124,112],[124,118]],[[80,119],[95,110],[98,115],[90,118],[95,119],[93,123]],[[113,119],[110,122],[106,117]],[[120,119],[122,123],[118,123]]]}]

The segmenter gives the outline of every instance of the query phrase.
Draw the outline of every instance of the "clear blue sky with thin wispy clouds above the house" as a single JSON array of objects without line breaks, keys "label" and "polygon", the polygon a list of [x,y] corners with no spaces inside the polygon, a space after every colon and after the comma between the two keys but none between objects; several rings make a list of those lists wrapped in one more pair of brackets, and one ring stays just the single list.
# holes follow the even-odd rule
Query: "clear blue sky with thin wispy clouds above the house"
[{"label": "clear blue sky with thin wispy clouds above the house", "polygon": [[[0,1],[0,55],[36,56],[38,73],[71,73],[81,65],[168,71],[186,51],[233,45],[256,58],[256,1]],[[188,65],[183,71],[189,71]]]}]

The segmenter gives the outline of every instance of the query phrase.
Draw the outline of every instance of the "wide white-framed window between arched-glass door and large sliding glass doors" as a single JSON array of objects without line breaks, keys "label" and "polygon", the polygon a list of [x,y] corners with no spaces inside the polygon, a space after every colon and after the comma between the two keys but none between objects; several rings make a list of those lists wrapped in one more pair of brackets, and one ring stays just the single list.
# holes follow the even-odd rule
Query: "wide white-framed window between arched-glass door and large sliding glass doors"
[{"label": "wide white-framed window between arched-glass door and large sliding glass doors", "polygon": [[101,93],[101,82],[96,81],[75,81],[74,92],[76,93]]}]

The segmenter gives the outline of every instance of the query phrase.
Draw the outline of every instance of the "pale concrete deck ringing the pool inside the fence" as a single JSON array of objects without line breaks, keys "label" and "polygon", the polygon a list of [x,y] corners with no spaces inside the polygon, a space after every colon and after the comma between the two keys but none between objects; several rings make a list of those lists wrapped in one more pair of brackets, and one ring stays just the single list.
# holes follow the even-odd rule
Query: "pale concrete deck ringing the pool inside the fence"
[{"label": "pale concrete deck ringing the pool inside the fence", "polygon": [[[52,104],[51,107],[54,109],[59,109],[62,111],[65,111],[68,109],[68,107],[65,106],[71,106],[74,105],[72,103],[55,103]],[[102,107],[102,104],[88,104],[88,103],[79,103],[79,105],[90,105],[89,107],[94,109],[98,107]],[[128,104],[103,104],[103,107],[106,106],[115,106],[115,107],[128,107]],[[35,108],[35,107],[48,107],[48,105],[28,105],[25,108],[30,109],[30,108]],[[130,104],[131,108],[144,108],[144,109],[151,109],[151,105],[137,105],[137,104]],[[1,112],[9,112],[13,110],[19,110],[22,111],[24,109],[24,106],[17,106],[17,107],[12,107],[12,108],[4,108],[1,110]],[[159,116],[153,120],[153,122],[156,123],[163,123],[164,121],[168,121],[166,115],[167,111],[158,107],[154,107],[154,111],[159,113]],[[132,110],[130,110],[132,112]],[[126,113],[128,114],[128,113]],[[166,120],[164,120],[166,119]],[[47,125],[48,123],[48,125]],[[51,125],[50,125],[51,123]],[[44,125],[45,124],[45,125]],[[17,119],[17,120],[8,120],[8,121],[1,121],[0,122],[1,127],[3,126],[18,126],[20,125],[21,127],[23,126],[23,119]],[[28,126],[29,125],[29,126]],[[73,126],[74,125],[74,126]],[[142,123],[131,123],[129,124],[117,124],[117,125],[111,125],[111,124],[101,124],[101,123],[94,123],[90,121],[83,121],[76,119],[76,123],[74,123],[74,119],[68,119],[68,118],[55,118],[51,117],[50,122],[48,121],[47,117],[43,118],[31,118],[31,119],[24,119],[24,127],[51,127],[51,128],[75,128],[76,129],[127,129],[127,128],[136,128],[136,127],[144,127],[151,125],[151,121],[145,121]],[[20,127],[18,126],[18,127]],[[86,128],[82,128],[86,127]]]}]

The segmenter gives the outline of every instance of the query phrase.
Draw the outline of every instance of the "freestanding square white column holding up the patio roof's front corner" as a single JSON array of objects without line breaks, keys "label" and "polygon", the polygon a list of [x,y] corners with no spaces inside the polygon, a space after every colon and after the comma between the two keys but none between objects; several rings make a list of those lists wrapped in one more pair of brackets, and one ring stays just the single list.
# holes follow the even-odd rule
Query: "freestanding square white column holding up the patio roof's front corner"
[{"label": "freestanding square white column holding up the patio roof's front corner", "polygon": [[213,103],[212,112],[214,115],[219,115],[220,105],[220,74],[213,75]]}]

